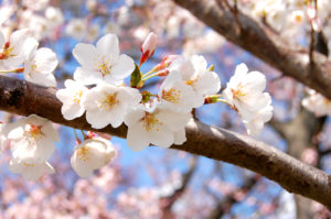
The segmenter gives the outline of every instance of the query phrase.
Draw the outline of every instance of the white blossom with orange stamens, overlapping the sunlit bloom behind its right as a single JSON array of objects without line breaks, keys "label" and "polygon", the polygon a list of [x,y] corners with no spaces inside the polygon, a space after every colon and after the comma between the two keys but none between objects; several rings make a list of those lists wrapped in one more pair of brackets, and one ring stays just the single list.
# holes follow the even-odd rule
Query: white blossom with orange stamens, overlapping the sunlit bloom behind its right
[{"label": "white blossom with orange stamens, overlapping the sunlit bloom behind its right", "polygon": [[194,107],[194,89],[182,80],[179,72],[172,70],[162,83],[159,98],[164,107],[174,111],[190,112]]}]

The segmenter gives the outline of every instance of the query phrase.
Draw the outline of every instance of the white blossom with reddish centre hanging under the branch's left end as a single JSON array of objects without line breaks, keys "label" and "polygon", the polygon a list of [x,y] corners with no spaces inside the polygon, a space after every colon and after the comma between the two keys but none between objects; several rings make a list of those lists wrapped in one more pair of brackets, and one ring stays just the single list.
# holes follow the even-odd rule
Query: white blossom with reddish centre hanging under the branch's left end
[{"label": "white blossom with reddish centre hanging under the branch's left end", "polygon": [[4,134],[10,140],[12,156],[18,161],[33,158],[44,162],[55,150],[53,142],[60,140],[52,123],[35,114],[7,124]]}]

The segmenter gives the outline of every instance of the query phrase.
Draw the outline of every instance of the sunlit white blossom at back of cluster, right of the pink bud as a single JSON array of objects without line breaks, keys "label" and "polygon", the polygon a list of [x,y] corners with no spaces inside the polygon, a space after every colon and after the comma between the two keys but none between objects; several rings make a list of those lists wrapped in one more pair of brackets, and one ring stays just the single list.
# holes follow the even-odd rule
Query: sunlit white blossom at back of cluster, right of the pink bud
[{"label": "sunlit white blossom at back of cluster, right of the pink bud", "polygon": [[169,72],[179,72],[182,80],[195,92],[195,108],[204,103],[204,97],[215,95],[221,89],[221,80],[216,73],[207,69],[203,56],[194,55],[190,59],[177,58],[169,66]]}]

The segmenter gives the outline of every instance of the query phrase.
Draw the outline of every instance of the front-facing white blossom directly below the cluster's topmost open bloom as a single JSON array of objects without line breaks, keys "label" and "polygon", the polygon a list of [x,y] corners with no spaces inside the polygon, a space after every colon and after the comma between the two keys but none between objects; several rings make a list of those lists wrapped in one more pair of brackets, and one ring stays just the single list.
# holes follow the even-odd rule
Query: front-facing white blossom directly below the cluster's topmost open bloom
[{"label": "front-facing white blossom directly below the cluster's topmost open bloom", "polygon": [[138,89],[100,83],[88,90],[83,98],[83,106],[86,109],[86,120],[93,128],[102,129],[109,123],[117,128],[129,108],[137,106],[140,100]]}]

